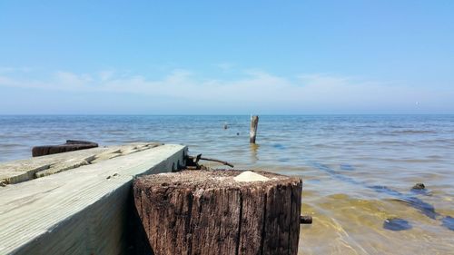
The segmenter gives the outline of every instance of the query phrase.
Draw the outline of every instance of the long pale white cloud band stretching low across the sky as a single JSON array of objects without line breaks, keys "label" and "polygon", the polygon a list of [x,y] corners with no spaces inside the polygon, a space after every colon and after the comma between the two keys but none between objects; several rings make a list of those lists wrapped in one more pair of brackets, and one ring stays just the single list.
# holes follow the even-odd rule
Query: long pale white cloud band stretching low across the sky
[{"label": "long pale white cloud band stretching low across the sky", "polygon": [[[440,92],[396,83],[381,83],[332,74],[297,74],[282,77],[248,70],[237,79],[209,79],[189,70],[173,70],[159,79],[141,74],[124,75],[112,70],[94,74],[55,72],[44,79],[0,74],[0,86],[35,89],[147,95],[150,100],[167,98],[168,103],[193,103],[207,108],[244,107],[282,111],[388,111],[412,110],[424,105],[452,109],[453,91]],[[419,102],[416,104],[416,102]],[[134,102],[130,102],[134,103]],[[420,104],[420,105],[419,105]]]}]

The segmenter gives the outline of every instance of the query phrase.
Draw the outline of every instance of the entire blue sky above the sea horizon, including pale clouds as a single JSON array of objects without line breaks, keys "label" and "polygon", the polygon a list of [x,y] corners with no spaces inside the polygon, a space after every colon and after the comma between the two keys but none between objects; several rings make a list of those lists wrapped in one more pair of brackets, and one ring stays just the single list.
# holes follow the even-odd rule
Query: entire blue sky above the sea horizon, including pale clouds
[{"label": "entire blue sky above the sea horizon, including pale clouds", "polygon": [[454,1],[0,1],[0,114],[454,113]]}]

